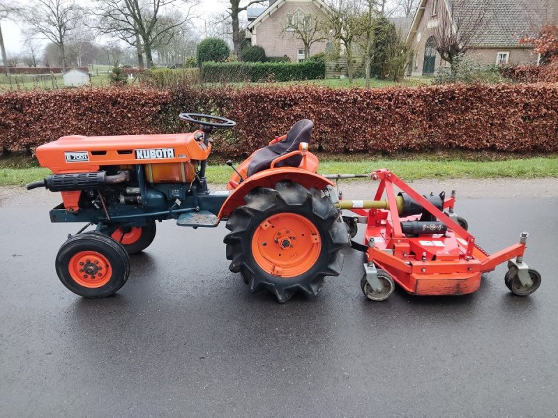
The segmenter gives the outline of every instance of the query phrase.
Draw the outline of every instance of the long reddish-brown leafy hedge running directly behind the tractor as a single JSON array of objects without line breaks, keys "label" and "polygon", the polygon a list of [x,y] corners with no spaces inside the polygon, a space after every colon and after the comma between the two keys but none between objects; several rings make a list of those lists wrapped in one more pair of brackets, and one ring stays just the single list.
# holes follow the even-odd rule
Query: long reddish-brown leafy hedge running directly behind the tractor
[{"label": "long reddish-brown leafy hedge running directly behind the tractor", "polygon": [[330,152],[469,150],[558,152],[558,84],[332,89],[317,86],[204,88],[171,92],[84,88],[0,95],[0,146],[33,148],[65,134],[186,132],[180,111],[220,114],[230,157],[264,146],[301,118],[310,148]]}]

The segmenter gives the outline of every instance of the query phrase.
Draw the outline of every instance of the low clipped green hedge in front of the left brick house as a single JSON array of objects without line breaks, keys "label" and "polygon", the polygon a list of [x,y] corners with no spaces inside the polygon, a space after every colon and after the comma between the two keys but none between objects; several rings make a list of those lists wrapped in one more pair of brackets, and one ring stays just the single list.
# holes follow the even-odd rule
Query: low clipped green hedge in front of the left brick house
[{"label": "low clipped green hedge in front of the left brick house", "polygon": [[220,82],[290,82],[294,80],[323,79],[326,66],[323,61],[308,59],[302,63],[204,63],[202,81]]}]

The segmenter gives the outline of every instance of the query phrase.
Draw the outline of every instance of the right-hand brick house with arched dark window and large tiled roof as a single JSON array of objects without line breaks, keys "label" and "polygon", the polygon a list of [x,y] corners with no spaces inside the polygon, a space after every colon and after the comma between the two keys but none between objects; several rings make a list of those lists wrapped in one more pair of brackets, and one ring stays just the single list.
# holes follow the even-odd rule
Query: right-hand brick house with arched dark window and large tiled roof
[{"label": "right-hand brick house with arched dark window and large tiled roof", "polygon": [[[452,7],[460,4],[467,8],[458,18]],[[414,50],[409,70],[414,76],[432,75],[441,66],[448,65],[435,50],[435,32],[444,22],[453,31],[473,28],[463,24],[469,15],[475,15],[475,7],[485,8],[482,33],[474,33],[471,49],[465,56],[481,64],[536,64],[538,54],[533,45],[520,45],[520,38],[534,36],[534,27],[543,19],[558,21],[558,7],[548,0],[421,0],[407,34],[407,45]],[[549,6],[550,5],[550,6]],[[462,8],[463,10],[463,8]],[[545,16],[540,13],[544,10]],[[461,22],[456,22],[460,19]],[[537,22],[538,20],[538,22]],[[476,27],[479,27],[478,25]],[[459,30],[459,29],[458,29]],[[463,30],[463,29],[462,29]],[[467,29],[465,29],[467,30]]]}]

